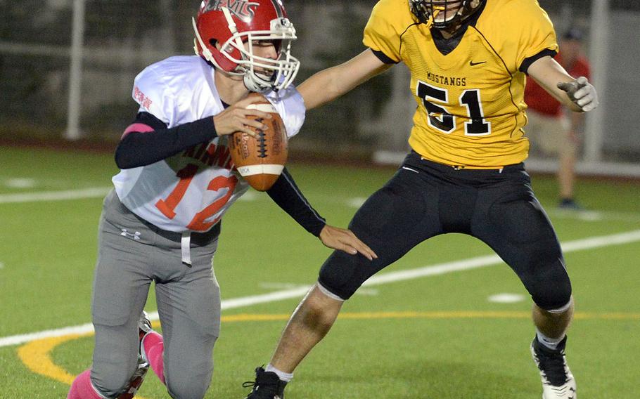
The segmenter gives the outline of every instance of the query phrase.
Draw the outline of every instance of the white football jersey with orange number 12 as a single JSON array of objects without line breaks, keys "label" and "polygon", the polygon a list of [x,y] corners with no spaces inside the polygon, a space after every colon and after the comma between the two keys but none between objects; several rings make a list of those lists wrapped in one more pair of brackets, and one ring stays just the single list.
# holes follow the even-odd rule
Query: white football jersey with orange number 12
[{"label": "white football jersey with orange number 12", "polygon": [[[169,128],[212,117],[224,110],[215,87],[215,70],[197,55],[155,63],[134,81],[139,112],[149,112]],[[305,121],[300,93],[269,91],[287,135]],[[113,177],[120,201],[134,214],[164,230],[205,232],[249,188],[233,168],[227,136],[196,145],[155,164],[122,169]],[[143,150],[143,149],[141,149]]]}]

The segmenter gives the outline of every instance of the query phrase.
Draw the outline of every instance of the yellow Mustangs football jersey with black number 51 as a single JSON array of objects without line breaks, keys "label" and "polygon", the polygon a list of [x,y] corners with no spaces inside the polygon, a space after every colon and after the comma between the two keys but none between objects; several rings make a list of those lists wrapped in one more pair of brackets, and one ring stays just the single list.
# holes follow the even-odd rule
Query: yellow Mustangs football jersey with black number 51
[{"label": "yellow Mustangs football jersey with black number 51", "polygon": [[529,152],[518,69],[543,51],[555,53],[556,34],[536,0],[487,0],[483,7],[446,55],[408,0],[379,1],[365,27],[366,46],[411,71],[418,109],[409,144],[425,159],[486,169],[518,164]]}]

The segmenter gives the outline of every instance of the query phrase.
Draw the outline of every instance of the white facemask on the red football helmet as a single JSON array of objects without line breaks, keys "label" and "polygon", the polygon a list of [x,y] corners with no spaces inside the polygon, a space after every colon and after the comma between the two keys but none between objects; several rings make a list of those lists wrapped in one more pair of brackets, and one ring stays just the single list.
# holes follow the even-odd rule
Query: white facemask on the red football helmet
[{"label": "white facemask on the red football helmet", "polygon": [[[196,53],[201,54],[205,60],[209,61],[226,73],[243,76],[243,81],[250,91],[268,91],[286,89],[291,84],[298,69],[300,61],[290,54],[291,41],[297,39],[295,28],[287,18],[275,18],[269,23],[269,30],[250,30],[238,32],[236,23],[229,10],[222,7],[226,22],[229,24],[231,37],[220,43],[217,47],[218,58],[223,55],[225,63],[233,65],[232,68],[220,65],[220,59],[216,59],[212,51],[207,48],[200,37],[196,21],[193,20],[193,28],[196,31]],[[265,58],[256,55],[254,51],[255,43],[258,41],[269,41],[276,47],[276,58]],[[200,53],[200,49],[203,51]]]}]

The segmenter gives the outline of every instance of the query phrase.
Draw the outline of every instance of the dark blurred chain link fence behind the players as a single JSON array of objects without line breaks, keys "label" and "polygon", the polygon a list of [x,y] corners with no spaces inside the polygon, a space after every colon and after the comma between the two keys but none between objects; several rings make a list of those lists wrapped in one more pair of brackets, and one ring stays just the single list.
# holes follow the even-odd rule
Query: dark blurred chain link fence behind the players
[{"label": "dark blurred chain link fence behind the players", "polygon": [[[489,0],[496,1],[496,0]],[[601,3],[603,2],[603,3]],[[84,6],[82,78],[72,81],[74,11]],[[134,77],[171,55],[193,53],[191,17],[198,1],[0,0],[0,134],[64,140],[70,136],[70,88],[79,89],[79,136],[116,143],[137,106]],[[293,52],[302,68],[297,82],[348,60],[364,49],[362,30],[374,0],[286,1],[299,39]],[[594,5],[606,4],[607,60],[598,60],[604,81],[597,161],[639,164],[640,2],[636,0],[541,0],[558,34],[570,26],[587,33],[593,51]],[[601,38],[596,37],[600,40]],[[324,157],[370,159],[380,148],[406,149],[415,103],[404,66],[372,79],[309,113],[292,148]],[[602,78],[603,77],[603,78]],[[413,104],[413,105],[412,105]],[[409,109],[407,110],[407,107]]]}]

